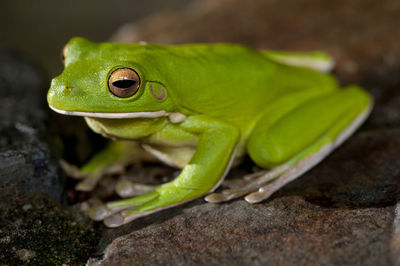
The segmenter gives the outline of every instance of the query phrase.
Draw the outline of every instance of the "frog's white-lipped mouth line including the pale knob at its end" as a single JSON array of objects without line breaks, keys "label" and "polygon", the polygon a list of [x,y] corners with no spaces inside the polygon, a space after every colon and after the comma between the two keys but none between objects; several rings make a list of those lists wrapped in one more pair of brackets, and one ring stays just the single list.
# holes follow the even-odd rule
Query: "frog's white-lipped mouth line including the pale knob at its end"
[{"label": "frog's white-lipped mouth line including the pale knob at its end", "polygon": [[109,119],[126,119],[126,118],[158,118],[168,117],[172,123],[180,123],[186,119],[186,116],[182,113],[167,112],[165,110],[160,111],[148,111],[148,112],[131,112],[131,113],[101,113],[101,112],[81,112],[81,111],[67,111],[60,110],[50,106],[54,112],[63,115],[83,116],[83,117],[95,117],[95,118],[109,118]]}]

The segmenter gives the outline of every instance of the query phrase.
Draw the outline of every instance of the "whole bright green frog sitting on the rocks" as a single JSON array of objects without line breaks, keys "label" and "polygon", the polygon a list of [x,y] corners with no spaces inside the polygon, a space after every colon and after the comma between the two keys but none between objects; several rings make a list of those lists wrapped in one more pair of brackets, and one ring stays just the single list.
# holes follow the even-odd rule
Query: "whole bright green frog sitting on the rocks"
[{"label": "whole bright green frog sitting on the rocks", "polygon": [[[373,106],[365,89],[339,85],[329,73],[334,60],[319,51],[74,37],[63,62],[51,81],[49,107],[84,117],[111,139],[70,171],[83,178],[80,190],[92,190],[110,169],[144,154],[181,169],[140,195],[93,206],[90,216],[108,227],[203,196],[209,203],[262,202],[340,146]],[[246,156],[260,170],[217,191]]]}]

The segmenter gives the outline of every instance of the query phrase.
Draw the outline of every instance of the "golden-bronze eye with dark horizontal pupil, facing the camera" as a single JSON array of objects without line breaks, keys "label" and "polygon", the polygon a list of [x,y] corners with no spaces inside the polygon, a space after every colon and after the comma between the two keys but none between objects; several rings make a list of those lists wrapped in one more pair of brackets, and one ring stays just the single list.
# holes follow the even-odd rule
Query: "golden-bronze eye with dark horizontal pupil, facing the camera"
[{"label": "golden-bronze eye with dark horizontal pupil, facing the camera", "polygon": [[140,85],[139,75],[130,68],[114,70],[108,78],[108,88],[111,93],[120,98],[134,95]]}]

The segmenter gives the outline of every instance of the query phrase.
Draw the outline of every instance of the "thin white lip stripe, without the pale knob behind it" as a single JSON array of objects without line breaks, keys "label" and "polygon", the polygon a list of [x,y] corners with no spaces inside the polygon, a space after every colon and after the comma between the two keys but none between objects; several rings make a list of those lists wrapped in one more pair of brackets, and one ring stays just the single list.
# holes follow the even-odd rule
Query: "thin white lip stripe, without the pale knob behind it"
[{"label": "thin white lip stripe, without the pale knob behind it", "polygon": [[63,115],[74,115],[74,116],[86,116],[86,117],[98,117],[98,118],[156,118],[162,116],[168,116],[170,113],[161,110],[161,111],[154,111],[154,112],[133,112],[133,113],[99,113],[99,112],[78,112],[78,111],[66,111],[54,108],[49,105],[49,107]]}]

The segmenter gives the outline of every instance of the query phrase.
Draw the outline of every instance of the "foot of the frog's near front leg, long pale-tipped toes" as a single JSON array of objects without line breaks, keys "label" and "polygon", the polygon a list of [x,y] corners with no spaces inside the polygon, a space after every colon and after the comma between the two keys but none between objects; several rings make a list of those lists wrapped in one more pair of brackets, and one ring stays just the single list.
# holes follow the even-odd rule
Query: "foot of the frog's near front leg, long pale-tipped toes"
[{"label": "foot of the frog's near front leg, long pale-tipped toes", "polygon": [[141,196],[94,206],[89,210],[89,216],[95,221],[103,220],[107,227],[118,227],[151,213],[177,206],[202,194],[204,194],[202,191],[166,183],[155,191]]}]

